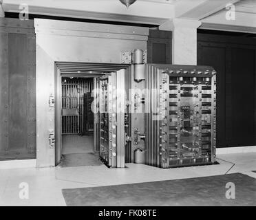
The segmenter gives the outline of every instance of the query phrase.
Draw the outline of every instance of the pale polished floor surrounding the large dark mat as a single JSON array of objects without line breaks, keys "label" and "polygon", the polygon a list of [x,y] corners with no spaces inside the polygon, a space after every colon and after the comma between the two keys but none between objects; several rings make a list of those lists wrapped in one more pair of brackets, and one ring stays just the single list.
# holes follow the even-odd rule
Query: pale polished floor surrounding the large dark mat
[{"label": "pale polished floor surrounding the large dark mat", "polygon": [[[70,168],[18,168],[0,170],[0,206],[65,206],[63,188],[82,188],[183,179],[228,173],[244,173],[256,178],[256,153],[218,155],[220,165],[160,169],[142,164],[109,169],[102,166]],[[29,184],[29,199],[19,199],[19,184]]]}]

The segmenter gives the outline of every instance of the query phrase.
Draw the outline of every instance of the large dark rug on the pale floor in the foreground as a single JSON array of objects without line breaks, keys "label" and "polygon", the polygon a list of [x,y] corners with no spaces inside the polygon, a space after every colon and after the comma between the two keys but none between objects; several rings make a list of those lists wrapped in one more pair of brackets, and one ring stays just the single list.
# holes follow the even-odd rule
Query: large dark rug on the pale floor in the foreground
[{"label": "large dark rug on the pale floor in the foreground", "polygon": [[[226,199],[229,182],[235,199]],[[256,179],[241,173],[62,192],[67,206],[256,206]]]}]

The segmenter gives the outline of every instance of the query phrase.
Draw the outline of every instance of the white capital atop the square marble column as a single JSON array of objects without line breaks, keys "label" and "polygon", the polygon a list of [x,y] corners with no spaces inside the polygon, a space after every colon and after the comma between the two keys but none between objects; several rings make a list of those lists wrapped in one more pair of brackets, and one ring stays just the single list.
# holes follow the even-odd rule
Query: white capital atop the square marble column
[{"label": "white capital atop the square marble column", "polygon": [[159,30],[173,31],[175,28],[192,28],[198,29],[202,25],[202,21],[190,19],[170,19],[159,26]]}]

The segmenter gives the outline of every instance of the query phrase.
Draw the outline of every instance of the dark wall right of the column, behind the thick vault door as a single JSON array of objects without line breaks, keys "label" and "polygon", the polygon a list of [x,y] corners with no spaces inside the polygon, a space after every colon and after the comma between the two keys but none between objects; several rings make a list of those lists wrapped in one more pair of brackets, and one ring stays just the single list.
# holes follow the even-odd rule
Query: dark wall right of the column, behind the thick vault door
[{"label": "dark wall right of the column, behind the thick vault door", "polygon": [[217,147],[256,144],[256,40],[198,34],[198,65],[217,71]]}]

